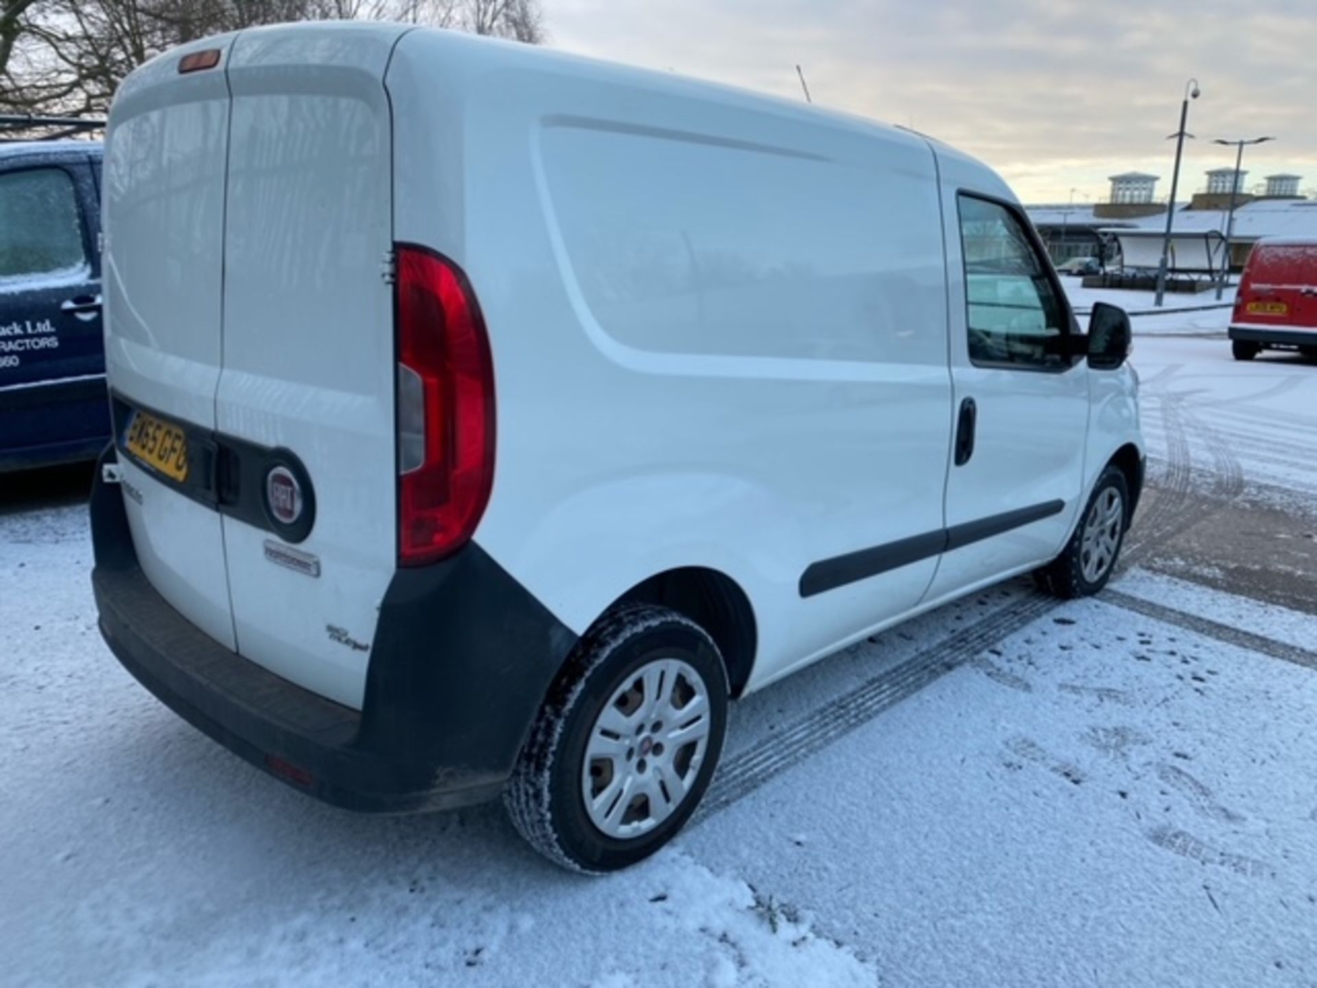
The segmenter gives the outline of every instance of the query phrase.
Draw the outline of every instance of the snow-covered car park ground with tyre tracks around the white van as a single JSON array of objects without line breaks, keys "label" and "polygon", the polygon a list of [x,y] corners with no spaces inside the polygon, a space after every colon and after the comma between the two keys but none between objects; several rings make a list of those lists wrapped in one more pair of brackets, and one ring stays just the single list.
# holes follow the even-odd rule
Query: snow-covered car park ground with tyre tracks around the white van
[{"label": "snow-covered car park ground with tyre tracks around the white van", "polygon": [[357,817],[238,761],[100,643],[84,510],[9,503],[0,984],[1317,983],[1317,365],[1135,365],[1106,593],[1013,581],[747,698],[693,826],[598,880],[498,806]]}]

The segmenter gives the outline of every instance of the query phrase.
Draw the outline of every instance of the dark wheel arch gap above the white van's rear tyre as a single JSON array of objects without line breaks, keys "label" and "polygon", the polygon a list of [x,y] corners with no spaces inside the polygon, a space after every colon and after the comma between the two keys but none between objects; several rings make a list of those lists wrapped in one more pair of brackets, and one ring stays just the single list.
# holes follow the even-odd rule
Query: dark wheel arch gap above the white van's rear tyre
[{"label": "dark wheel arch gap above the white van's rear tyre", "polygon": [[632,586],[608,610],[626,603],[668,607],[699,624],[722,653],[730,696],[740,697],[755,668],[759,631],[749,597],[735,580],[707,566],[668,569]]}]

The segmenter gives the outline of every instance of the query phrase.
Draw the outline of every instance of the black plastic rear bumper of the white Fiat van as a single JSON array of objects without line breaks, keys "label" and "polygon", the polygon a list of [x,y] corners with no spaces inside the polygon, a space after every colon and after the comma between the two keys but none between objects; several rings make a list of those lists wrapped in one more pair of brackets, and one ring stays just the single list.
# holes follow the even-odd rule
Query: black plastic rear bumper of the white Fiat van
[{"label": "black plastic rear bumper of the white Fiat van", "polygon": [[471,544],[394,577],[365,705],[352,710],[224,648],[175,611],[138,566],[122,495],[99,472],[91,514],[100,630],[120,663],[192,726],[336,806],[403,813],[497,797],[576,642]]}]

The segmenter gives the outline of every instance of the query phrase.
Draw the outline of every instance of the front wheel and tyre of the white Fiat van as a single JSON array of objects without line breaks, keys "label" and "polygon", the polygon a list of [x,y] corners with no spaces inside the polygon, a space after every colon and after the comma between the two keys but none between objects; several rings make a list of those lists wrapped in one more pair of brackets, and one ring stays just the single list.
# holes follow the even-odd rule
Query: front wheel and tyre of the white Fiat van
[{"label": "front wheel and tyre of the white Fiat van", "polygon": [[1108,465],[1062,555],[1035,570],[1038,586],[1064,599],[1088,597],[1106,586],[1130,523],[1129,505],[1125,474]]}]

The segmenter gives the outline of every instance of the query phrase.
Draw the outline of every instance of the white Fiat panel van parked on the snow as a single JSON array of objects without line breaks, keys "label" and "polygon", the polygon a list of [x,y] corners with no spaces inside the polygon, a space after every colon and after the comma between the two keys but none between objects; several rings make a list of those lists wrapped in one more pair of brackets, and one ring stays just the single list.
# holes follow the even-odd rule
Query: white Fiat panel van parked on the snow
[{"label": "white Fiat panel van parked on the snow", "polygon": [[307,24],[138,69],[105,174],[101,631],[340,806],[502,794],[624,867],[728,701],[1011,574],[1094,593],[1139,497],[1129,319],[1081,333],[905,130]]}]

